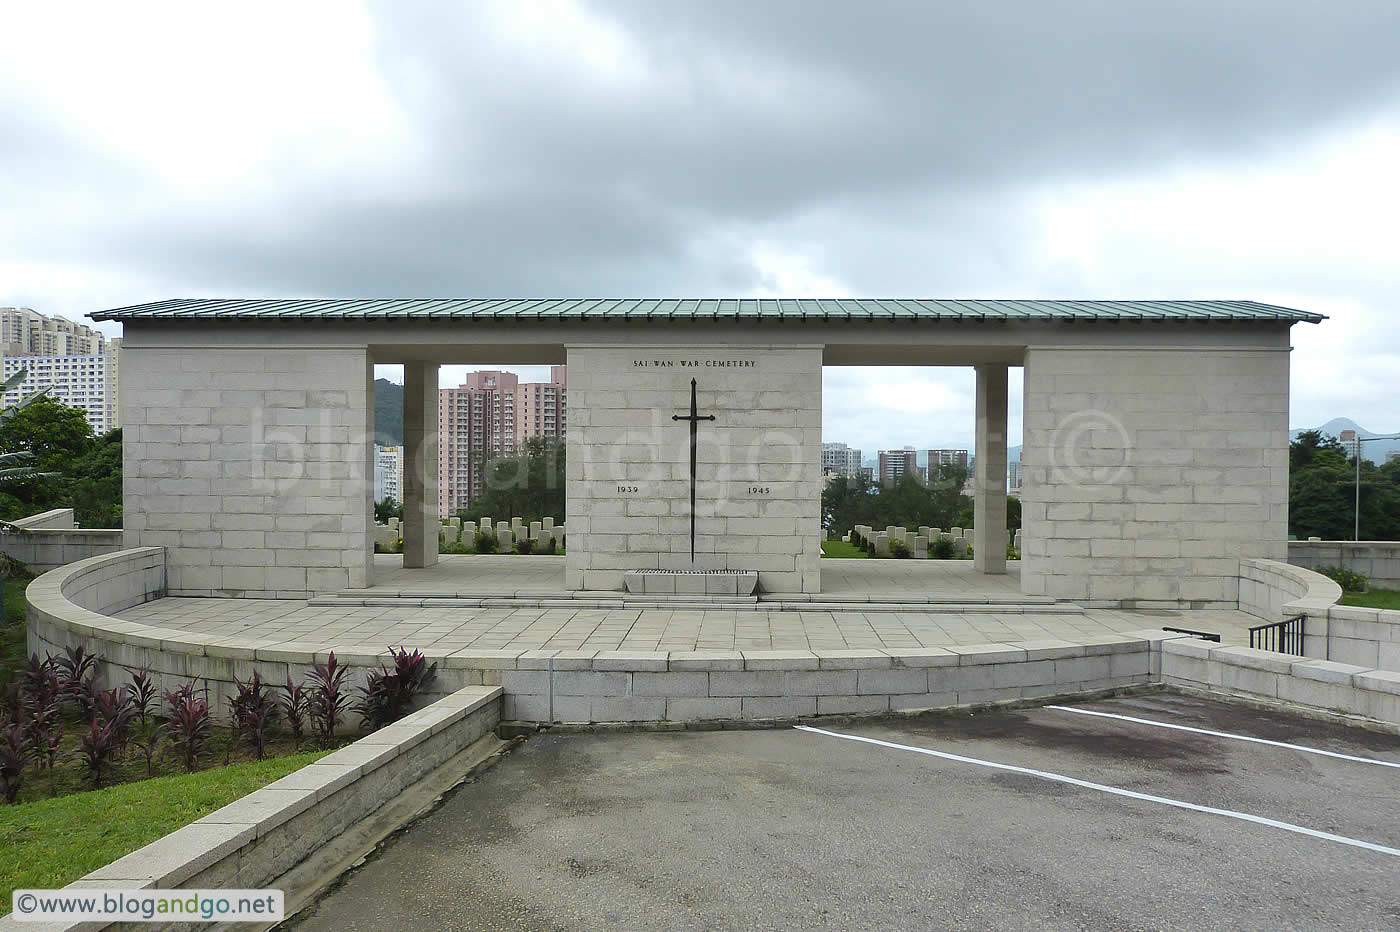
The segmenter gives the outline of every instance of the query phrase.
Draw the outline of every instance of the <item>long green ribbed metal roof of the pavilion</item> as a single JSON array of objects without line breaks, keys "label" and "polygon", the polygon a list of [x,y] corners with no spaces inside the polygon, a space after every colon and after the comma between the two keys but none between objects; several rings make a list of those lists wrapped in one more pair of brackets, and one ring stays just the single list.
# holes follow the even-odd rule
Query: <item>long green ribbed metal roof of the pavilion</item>
[{"label": "long green ribbed metal roof of the pavilion", "polygon": [[1257,301],[893,298],[175,298],[94,320],[1306,320]]}]

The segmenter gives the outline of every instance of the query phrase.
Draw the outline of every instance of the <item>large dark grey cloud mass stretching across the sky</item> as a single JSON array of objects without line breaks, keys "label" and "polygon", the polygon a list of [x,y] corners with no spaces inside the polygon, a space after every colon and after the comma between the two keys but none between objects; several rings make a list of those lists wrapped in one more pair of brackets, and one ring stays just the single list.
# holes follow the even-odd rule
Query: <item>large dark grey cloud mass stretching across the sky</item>
[{"label": "large dark grey cloud mass stretching across the sky", "polygon": [[762,287],[746,243],[770,238],[861,291],[1025,291],[1016,192],[1303,139],[1387,105],[1400,74],[1393,3],[589,8],[638,52],[634,81],[522,59],[476,4],[377,4],[426,151],[363,179],[389,196],[311,195],[308,153],[286,202],[192,209],[99,140],[29,139],[35,204],[106,186],[113,209],[11,250],[183,292],[685,294]]}]

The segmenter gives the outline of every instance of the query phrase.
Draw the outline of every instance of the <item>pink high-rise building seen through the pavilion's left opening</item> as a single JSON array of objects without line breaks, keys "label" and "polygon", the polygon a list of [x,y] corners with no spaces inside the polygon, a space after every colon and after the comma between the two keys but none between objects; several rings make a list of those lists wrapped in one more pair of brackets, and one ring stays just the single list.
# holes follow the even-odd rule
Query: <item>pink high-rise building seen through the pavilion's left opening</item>
[{"label": "pink high-rise building seen through the pavilion's left opening", "polygon": [[438,389],[441,516],[455,515],[482,494],[491,455],[511,453],[531,437],[564,439],[564,378],[563,365],[549,367],[549,382],[482,369],[468,372],[455,389]]}]

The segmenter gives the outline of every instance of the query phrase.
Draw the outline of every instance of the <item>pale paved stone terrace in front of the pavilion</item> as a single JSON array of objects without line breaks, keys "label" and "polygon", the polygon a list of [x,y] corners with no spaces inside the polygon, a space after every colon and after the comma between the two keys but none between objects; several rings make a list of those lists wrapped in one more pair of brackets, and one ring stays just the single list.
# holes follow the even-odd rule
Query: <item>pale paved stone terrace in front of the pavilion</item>
[{"label": "pale paved stone terrace in front of the pavilion", "polygon": [[[381,560],[396,560],[393,557]],[[476,557],[431,570],[393,570],[377,586],[396,591],[461,592],[463,571],[482,571],[482,591],[521,595],[556,591],[559,558]],[[454,565],[455,564],[455,565]],[[836,565],[832,565],[836,564]],[[862,564],[855,567],[854,564]],[[827,567],[832,570],[827,570]],[[1014,598],[1014,579],[983,577],[972,564],[939,571],[935,564],[829,560],[823,577],[839,585],[864,584],[882,599],[900,592],[927,593],[941,572],[959,598],[983,602]],[[931,567],[931,568],[924,568]],[[388,570],[388,567],[386,567]],[[476,582],[469,582],[468,589]],[[364,591],[356,591],[364,592]],[[865,593],[847,588],[853,599]],[[119,617],[162,628],[227,638],[230,644],[293,647],[304,651],[360,648],[384,652],[388,645],[470,651],[735,651],[735,649],[918,649],[981,644],[1086,644],[1126,631],[1175,626],[1215,631],[1225,644],[1247,644],[1246,628],[1259,620],[1243,612],[1068,610],[1058,605],[1008,605],[1005,612],[862,612],[755,609],[592,609],[592,607],[462,607],[434,605],[308,605],[272,599],[158,599]]]}]

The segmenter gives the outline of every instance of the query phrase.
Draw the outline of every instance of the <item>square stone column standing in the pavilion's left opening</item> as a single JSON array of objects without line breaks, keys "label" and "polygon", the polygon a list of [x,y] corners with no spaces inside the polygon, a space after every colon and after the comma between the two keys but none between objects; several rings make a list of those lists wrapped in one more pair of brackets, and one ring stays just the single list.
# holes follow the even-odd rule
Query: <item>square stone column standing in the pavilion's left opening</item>
[{"label": "square stone column standing in the pavilion's left opening", "polygon": [[438,561],[438,367],[403,365],[403,567]]}]

